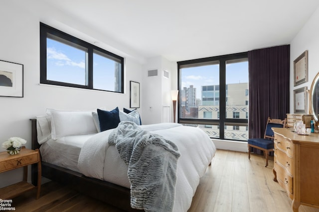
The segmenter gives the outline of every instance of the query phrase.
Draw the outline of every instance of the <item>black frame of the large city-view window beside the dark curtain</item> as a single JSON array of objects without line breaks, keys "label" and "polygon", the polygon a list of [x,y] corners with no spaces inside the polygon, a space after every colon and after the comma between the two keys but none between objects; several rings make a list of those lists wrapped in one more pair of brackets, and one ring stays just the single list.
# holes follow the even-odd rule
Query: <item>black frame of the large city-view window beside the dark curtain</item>
[{"label": "black frame of the large city-view window beside the dark curtain", "polygon": [[[198,124],[198,125],[218,125],[219,127],[219,140],[225,140],[225,126],[248,126],[248,119],[230,119],[226,118],[226,62],[231,60],[248,60],[248,52],[222,55],[201,59],[194,59],[188,61],[177,62],[177,88],[180,88],[181,68],[196,67],[196,64],[211,64],[212,62],[219,61],[219,119],[189,119],[180,117],[180,101],[178,101],[177,107],[177,122],[180,124]],[[227,139],[232,141],[246,141]]]}]

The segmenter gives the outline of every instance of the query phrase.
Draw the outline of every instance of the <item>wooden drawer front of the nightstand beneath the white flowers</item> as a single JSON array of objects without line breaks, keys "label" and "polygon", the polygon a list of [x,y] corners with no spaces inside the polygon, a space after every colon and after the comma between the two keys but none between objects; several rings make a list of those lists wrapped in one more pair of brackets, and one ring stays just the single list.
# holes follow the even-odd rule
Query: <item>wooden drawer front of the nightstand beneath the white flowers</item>
[{"label": "wooden drawer front of the nightstand beneath the white flowers", "polygon": [[[12,157],[12,159],[10,159],[10,157]],[[36,152],[29,155],[21,154],[20,156],[8,155],[7,160],[5,160],[5,162],[0,163],[0,172],[19,168],[36,162],[38,162],[38,155]]]}]

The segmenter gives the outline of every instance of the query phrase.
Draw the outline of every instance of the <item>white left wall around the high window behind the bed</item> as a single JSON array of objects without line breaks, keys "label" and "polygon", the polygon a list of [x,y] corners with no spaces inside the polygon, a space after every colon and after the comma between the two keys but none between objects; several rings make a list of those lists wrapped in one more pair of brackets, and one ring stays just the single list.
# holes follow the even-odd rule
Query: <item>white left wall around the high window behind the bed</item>
[{"label": "white left wall around the high window behind the bed", "polygon": [[[81,25],[77,20],[54,8],[40,9],[27,1],[1,1],[0,6],[0,60],[23,64],[24,97],[0,97],[0,144],[10,137],[21,137],[31,147],[30,118],[45,113],[46,108],[95,109],[119,106],[130,107],[129,81],[142,82],[143,58],[116,41],[101,35],[95,29]],[[41,1],[38,1],[41,4]],[[91,91],[77,88],[39,85],[39,22],[44,22],[75,37],[93,43],[125,58],[125,93]],[[143,83],[141,83],[143,89]],[[143,97],[141,96],[141,101]],[[140,113],[143,118],[143,106]],[[142,120],[143,121],[143,120]],[[0,151],[4,151],[0,147]],[[22,179],[22,170],[0,174],[0,187]],[[29,177],[30,180],[30,177]]]}]

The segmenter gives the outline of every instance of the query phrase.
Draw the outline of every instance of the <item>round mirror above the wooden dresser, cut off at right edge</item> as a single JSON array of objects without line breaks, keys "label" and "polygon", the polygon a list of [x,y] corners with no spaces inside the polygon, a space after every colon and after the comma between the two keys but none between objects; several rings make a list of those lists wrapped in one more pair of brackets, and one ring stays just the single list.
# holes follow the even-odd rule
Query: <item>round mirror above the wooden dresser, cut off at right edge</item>
[{"label": "round mirror above the wooden dresser, cut off at right edge", "polygon": [[319,73],[317,73],[310,90],[310,113],[314,115],[316,122],[319,120]]}]

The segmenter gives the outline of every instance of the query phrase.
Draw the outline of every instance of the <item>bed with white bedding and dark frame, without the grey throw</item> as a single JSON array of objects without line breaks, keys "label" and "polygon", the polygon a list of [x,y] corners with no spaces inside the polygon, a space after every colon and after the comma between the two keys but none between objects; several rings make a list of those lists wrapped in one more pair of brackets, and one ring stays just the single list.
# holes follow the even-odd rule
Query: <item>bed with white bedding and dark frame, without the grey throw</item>
[{"label": "bed with white bedding and dark frame, without the grey throw", "polygon": [[[31,119],[32,148],[40,149],[42,176],[67,184],[81,193],[91,195],[122,210],[141,211],[131,208],[131,194],[134,190],[130,189],[133,183],[130,184],[131,178],[129,180],[128,177],[129,166],[120,157],[117,147],[107,142],[110,134],[118,132],[121,125],[123,129],[126,129],[127,124],[136,127],[141,123],[141,119],[138,117],[137,120],[137,116],[129,113],[125,115],[129,120],[123,120],[122,114],[120,124],[117,124],[118,128],[98,132],[99,130],[93,126],[98,127],[102,124],[96,123],[96,115],[96,112],[91,111],[50,110],[44,116]],[[79,116],[82,118],[78,118]],[[47,117],[50,117],[50,120]],[[109,121],[110,117],[107,118]],[[46,125],[48,129],[51,128],[50,136],[46,130],[39,127],[41,119],[48,120]],[[73,122],[73,125],[70,122]],[[65,130],[66,128],[68,130]],[[191,205],[199,179],[205,173],[215,153],[215,145],[200,129],[180,124],[140,125],[136,129],[171,141],[178,147],[180,155],[176,160],[172,211],[186,212]],[[88,150],[91,148],[95,148],[93,153],[90,152],[92,150]],[[91,155],[97,155],[97,159]],[[96,162],[99,160],[101,163]],[[34,168],[32,167],[32,182],[36,182]]]}]

